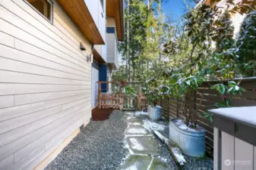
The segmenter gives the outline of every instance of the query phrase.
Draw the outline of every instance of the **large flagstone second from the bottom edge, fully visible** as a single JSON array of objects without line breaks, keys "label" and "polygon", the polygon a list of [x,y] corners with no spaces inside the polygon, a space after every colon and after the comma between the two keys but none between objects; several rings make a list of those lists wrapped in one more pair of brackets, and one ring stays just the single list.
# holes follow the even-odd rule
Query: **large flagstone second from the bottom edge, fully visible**
[{"label": "large flagstone second from the bottom edge, fully visible", "polygon": [[134,154],[158,155],[157,143],[153,136],[134,136],[125,140]]}]

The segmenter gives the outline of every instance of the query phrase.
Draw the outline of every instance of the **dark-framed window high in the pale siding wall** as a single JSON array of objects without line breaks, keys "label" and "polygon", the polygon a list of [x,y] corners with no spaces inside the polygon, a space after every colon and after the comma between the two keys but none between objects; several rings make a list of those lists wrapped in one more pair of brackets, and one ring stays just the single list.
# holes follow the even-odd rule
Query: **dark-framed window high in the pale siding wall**
[{"label": "dark-framed window high in the pale siding wall", "polygon": [[52,1],[51,0],[25,0],[40,14],[52,22]]}]

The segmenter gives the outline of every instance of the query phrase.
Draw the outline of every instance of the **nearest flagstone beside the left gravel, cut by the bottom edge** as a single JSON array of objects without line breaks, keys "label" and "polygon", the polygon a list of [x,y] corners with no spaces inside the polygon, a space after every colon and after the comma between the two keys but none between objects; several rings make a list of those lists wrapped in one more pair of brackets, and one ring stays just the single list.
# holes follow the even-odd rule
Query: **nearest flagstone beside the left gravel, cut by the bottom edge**
[{"label": "nearest flagstone beside the left gravel, cut by the bottom edge", "polygon": [[126,159],[125,164],[120,168],[117,168],[117,170],[147,170],[151,159],[151,156],[131,155],[128,157],[128,159]]}]

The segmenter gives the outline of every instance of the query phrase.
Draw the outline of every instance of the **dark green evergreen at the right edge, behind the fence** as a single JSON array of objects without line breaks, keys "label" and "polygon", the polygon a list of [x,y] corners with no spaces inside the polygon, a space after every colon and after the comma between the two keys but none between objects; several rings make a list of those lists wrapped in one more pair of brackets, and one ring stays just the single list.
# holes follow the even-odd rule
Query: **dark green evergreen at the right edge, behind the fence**
[{"label": "dark green evergreen at the right edge, behind the fence", "polygon": [[256,76],[256,11],[245,17],[236,42],[236,56],[245,76]]}]

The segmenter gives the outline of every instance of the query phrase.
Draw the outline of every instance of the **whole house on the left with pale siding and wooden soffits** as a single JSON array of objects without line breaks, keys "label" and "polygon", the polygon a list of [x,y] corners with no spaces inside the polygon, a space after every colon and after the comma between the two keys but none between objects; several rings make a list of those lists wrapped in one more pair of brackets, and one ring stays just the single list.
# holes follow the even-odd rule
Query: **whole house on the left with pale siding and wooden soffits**
[{"label": "whole house on the left with pale siding and wooden soffits", "polygon": [[0,0],[1,170],[45,168],[90,122],[123,25],[122,0]]}]

